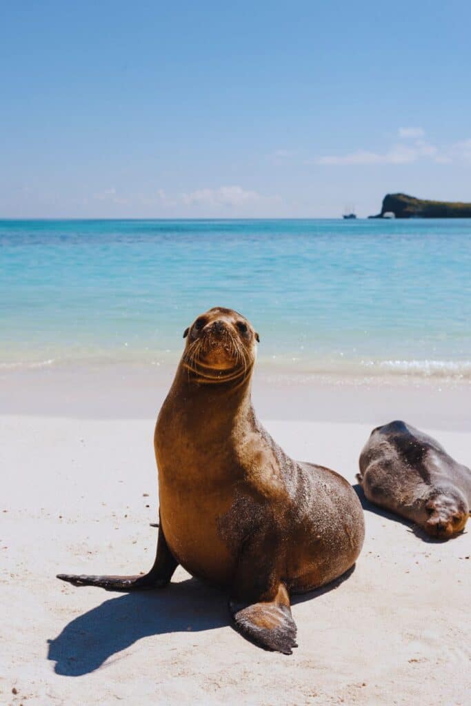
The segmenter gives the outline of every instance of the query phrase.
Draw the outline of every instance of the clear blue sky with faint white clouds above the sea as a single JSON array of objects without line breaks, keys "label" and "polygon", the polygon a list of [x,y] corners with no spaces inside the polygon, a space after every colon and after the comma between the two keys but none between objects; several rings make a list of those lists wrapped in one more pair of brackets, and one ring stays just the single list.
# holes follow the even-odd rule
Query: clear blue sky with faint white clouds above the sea
[{"label": "clear blue sky with faint white clouds above the sea", "polygon": [[3,2],[0,217],[471,201],[471,4]]}]

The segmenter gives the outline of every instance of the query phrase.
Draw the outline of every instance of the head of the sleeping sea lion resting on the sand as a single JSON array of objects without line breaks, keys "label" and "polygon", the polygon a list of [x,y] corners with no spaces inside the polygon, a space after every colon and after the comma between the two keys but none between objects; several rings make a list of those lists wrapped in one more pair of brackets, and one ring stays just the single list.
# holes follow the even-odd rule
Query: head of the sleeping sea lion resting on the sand
[{"label": "head of the sleeping sea lion resting on the sand", "polygon": [[469,508],[457,488],[436,489],[425,503],[427,519],[424,530],[436,539],[449,539],[464,530]]}]

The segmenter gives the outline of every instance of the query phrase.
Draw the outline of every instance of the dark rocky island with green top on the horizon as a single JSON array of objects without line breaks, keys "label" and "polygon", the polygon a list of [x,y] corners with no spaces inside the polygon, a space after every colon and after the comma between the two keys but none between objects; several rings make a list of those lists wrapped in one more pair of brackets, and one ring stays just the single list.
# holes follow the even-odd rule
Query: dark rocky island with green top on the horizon
[{"label": "dark rocky island with green top on the horizon", "polygon": [[396,218],[471,218],[471,203],[427,201],[407,193],[387,193],[381,213],[370,218],[384,218],[385,214],[394,214]]}]

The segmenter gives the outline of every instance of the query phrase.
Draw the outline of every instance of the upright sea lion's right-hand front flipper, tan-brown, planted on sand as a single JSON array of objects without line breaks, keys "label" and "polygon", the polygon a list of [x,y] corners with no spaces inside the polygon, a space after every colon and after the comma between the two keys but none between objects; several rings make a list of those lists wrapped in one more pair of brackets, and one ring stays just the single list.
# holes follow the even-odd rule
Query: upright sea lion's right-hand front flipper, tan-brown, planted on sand
[{"label": "upright sea lion's right-hand front flipper, tan-brown, planted on sand", "polygon": [[237,630],[256,645],[282,654],[292,654],[292,648],[297,647],[297,628],[291,615],[290,597],[282,583],[272,601],[253,603],[240,609],[237,604],[229,602],[229,610]]}]

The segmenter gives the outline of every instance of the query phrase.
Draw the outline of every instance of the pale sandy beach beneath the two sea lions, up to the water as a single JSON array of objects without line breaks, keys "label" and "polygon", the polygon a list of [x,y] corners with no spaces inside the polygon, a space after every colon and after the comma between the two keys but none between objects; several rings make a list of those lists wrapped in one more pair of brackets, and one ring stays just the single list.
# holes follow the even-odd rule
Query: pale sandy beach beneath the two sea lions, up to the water
[{"label": "pale sandy beach beneath the two sea lions, up to the water", "polygon": [[[126,419],[125,397],[107,406],[100,385],[71,393],[72,378],[64,388],[54,375],[41,409],[36,393],[44,395],[44,378],[34,379],[18,376],[8,387],[4,378],[0,388],[8,390],[0,402],[2,704],[469,703],[469,531],[450,542],[425,542],[366,503],[366,539],[354,573],[294,599],[299,647],[291,657],[246,642],[229,625],[224,594],[181,568],[170,587],[144,594],[56,580],[59,572],[138,573],[151,566],[157,485],[149,408],[158,409],[165,388],[160,378],[155,389],[143,388],[145,414]],[[129,378],[120,379],[131,389]],[[304,386],[303,399],[315,413],[297,421],[292,386],[283,391],[279,381],[279,388],[258,388],[257,406],[288,453],[329,465],[352,484],[372,424],[397,416],[470,465],[470,388],[442,385],[441,392],[422,388],[422,395],[420,389],[395,385],[385,397],[385,388],[371,385],[345,393],[313,383]],[[278,394],[290,410],[285,419],[282,401],[270,414]],[[386,417],[388,395],[393,414]],[[317,400],[324,398],[322,419]],[[139,409],[137,397],[129,405],[135,412],[133,405]],[[380,412],[385,416],[370,419]]]}]

